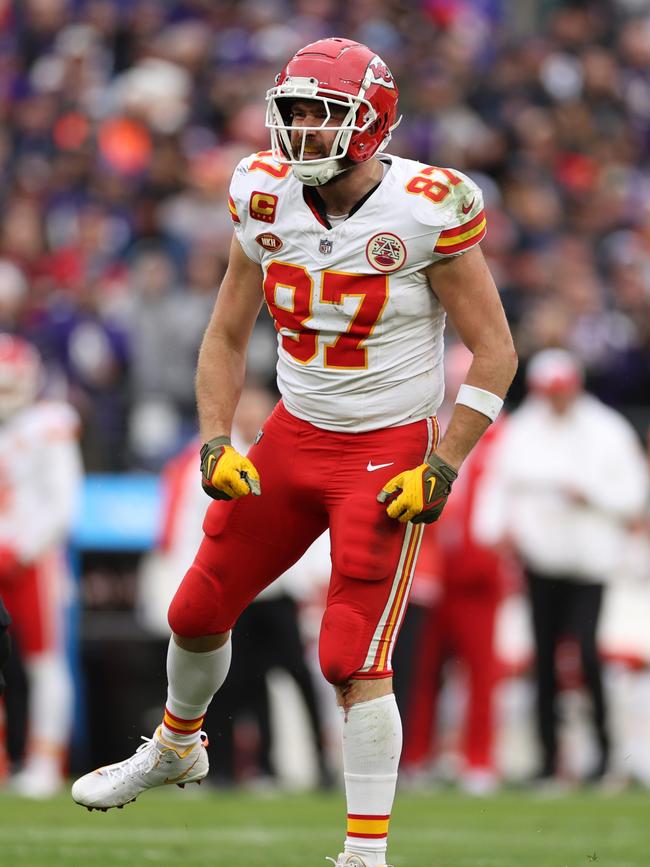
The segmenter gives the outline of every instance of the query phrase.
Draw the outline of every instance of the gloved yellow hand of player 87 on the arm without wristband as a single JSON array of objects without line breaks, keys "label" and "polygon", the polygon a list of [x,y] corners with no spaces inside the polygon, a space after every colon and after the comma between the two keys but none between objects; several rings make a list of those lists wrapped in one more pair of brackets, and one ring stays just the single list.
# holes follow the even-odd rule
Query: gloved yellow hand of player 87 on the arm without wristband
[{"label": "gloved yellow hand of player 87 on the arm without wristband", "polygon": [[262,493],[260,474],[240,455],[230,437],[214,437],[201,447],[201,484],[213,500],[233,500]]}]

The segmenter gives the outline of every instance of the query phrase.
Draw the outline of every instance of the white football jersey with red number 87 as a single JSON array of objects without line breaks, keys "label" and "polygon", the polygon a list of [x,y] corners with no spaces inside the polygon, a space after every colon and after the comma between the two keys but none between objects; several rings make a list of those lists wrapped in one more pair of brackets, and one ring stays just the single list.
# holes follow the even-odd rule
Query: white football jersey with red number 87
[{"label": "white football jersey with red number 87", "polygon": [[445,313],[423,269],[485,235],[483,197],[468,177],[379,159],[379,186],[331,228],[270,153],[243,159],[230,187],[237,239],[262,267],[285,406],[327,430],[435,414]]}]

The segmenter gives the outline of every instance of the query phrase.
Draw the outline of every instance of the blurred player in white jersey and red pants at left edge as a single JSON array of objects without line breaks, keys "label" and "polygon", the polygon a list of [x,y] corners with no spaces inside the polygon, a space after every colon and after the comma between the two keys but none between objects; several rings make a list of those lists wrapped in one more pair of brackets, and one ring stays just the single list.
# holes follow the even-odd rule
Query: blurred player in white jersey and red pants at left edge
[{"label": "blurred player in white jersey and red pants at left edge", "polygon": [[37,399],[41,373],[30,343],[0,334],[0,596],[28,688],[25,761],[10,782],[32,798],[63,785],[72,719],[64,544],[82,473],[77,415]]}]

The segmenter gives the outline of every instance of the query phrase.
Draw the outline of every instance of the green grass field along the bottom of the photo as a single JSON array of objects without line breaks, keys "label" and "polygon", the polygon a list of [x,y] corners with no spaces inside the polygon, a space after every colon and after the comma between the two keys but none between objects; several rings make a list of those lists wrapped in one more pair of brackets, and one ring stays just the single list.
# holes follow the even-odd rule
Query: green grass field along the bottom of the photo
[{"label": "green grass field along the bottom of the photo", "polygon": [[[343,796],[252,796],[198,787],[149,792],[89,813],[67,796],[0,794],[2,867],[325,867],[343,831]],[[395,867],[648,867],[650,795],[400,793]]]}]

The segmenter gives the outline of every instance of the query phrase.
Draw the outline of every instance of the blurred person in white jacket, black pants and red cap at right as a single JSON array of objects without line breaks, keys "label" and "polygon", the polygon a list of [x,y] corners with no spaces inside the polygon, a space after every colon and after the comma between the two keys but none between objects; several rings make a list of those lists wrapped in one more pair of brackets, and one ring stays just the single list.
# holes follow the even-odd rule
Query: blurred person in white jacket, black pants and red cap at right
[{"label": "blurred person in white jacket, black pants and red cap at right", "polygon": [[631,523],[648,494],[647,468],[634,431],[583,390],[573,355],[545,350],[527,370],[529,394],[506,423],[478,495],[476,530],[509,545],[526,572],[536,652],[540,781],[561,776],[557,658],[579,645],[591,700],[596,761],[608,770],[610,733],[596,636],[608,581],[622,568]]}]

